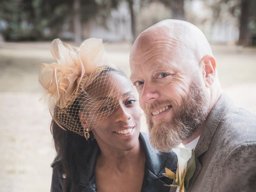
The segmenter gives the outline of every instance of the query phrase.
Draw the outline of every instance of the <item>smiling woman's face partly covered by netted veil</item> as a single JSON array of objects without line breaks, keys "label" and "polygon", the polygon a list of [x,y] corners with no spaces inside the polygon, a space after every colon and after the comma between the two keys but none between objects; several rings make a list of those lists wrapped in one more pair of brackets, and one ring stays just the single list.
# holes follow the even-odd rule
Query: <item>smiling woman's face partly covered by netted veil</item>
[{"label": "smiling woman's face partly covered by netted veil", "polygon": [[[87,92],[94,96],[94,102],[86,109],[85,119],[107,117],[92,132],[99,146],[128,151],[138,144],[141,110],[128,78],[109,72],[101,78],[98,87],[91,86]],[[88,106],[88,105],[87,105]],[[114,111],[113,111],[114,110]],[[90,115],[90,114],[93,114]]]}]

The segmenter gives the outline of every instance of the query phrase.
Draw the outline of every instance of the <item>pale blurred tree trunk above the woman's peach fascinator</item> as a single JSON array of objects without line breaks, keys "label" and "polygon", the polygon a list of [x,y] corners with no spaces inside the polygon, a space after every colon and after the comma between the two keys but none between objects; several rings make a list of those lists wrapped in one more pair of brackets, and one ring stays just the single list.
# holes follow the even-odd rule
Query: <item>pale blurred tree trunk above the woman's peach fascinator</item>
[{"label": "pale blurred tree trunk above the woman's peach fascinator", "polygon": [[82,43],[82,26],[81,26],[81,2],[74,0],[74,35],[75,44],[79,46]]}]

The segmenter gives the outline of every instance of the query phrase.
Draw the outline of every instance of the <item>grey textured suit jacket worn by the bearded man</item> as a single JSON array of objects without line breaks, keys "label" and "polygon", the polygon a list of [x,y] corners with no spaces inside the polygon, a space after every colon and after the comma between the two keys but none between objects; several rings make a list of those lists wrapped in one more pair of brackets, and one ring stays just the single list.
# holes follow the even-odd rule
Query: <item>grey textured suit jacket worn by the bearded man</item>
[{"label": "grey textured suit jacket worn by the bearded man", "polygon": [[211,110],[194,152],[187,192],[256,192],[256,116],[226,94]]}]

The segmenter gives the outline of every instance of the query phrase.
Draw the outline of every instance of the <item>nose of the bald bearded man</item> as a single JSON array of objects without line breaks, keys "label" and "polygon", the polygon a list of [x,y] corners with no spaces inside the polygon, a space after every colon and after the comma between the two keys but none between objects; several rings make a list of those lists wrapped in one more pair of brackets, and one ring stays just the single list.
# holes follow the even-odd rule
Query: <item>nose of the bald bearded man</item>
[{"label": "nose of the bald bearded man", "polygon": [[144,103],[151,103],[158,99],[160,95],[154,85],[145,84],[142,88],[142,92],[140,93],[140,99]]}]

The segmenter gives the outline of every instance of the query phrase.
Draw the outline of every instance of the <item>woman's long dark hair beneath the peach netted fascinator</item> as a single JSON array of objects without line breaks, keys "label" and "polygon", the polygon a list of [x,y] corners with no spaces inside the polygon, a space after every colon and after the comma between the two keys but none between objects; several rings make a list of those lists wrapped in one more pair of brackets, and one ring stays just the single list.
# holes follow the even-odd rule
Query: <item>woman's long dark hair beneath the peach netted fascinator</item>
[{"label": "woman's long dark hair beneath the peach netted fascinator", "polygon": [[[116,72],[128,79],[126,74],[122,70],[106,67],[100,74],[106,74],[109,72]],[[99,75],[100,75],[99,74]],[[76,108],[74,112],[70,112],[72,118],[76,119],[77,123],[81,126],[79,118],[79,98],[77,98],[73,104],[72,109]],[[56,110],[58,110],[56,108]],[[86,140],[83,136],[76,134],[68,129],[63,130],[60,126],[52,120],[51,132],[54,140],[54,146],[57,152],[56,159],[60,159],[56,164],[63,168],[63,171],[67,174],[67,179],[64,180],[64,192],[65,191],[74,191],[75,184],[77,182],[77,170],[82,171],[85,176],[88,173],[88,157],[90,156],[90,144],[96,142],[93,139],[93,134],[90,131],[90,139]],[[89,179],[90,178],[86,178]],[[68,187],[68,182],[71,182],[71,189]]]}]

